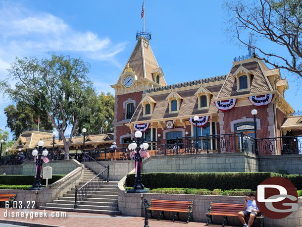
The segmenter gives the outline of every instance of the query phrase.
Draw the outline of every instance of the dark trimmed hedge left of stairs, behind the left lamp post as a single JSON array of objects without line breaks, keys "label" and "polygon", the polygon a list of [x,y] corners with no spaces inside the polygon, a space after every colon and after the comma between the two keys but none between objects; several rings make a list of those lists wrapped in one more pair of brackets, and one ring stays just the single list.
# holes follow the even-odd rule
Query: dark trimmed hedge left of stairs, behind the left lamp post
[{"label": "dark trimmed hedge left of stairs, behind the left lamp post", "polygon": [[[52,175],[52,178],[48,179],[48,184],[52,184],[64,176],[65,175]],[[35,181],[34,177],[34,175],[0,175],[0,184],[32,185]],[[46,179],[41,179],[41,183],[46,185]]]}]

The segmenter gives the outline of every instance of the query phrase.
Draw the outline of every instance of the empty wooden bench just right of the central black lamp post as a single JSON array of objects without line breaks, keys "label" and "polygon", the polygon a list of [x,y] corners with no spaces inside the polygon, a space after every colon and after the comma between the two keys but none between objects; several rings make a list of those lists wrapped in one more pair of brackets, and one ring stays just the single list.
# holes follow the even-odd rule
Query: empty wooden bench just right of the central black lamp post
[{"label": "empty wooden bench just right of the central black lamp post", "polygon": [[158,221],[160,219],[160,215],[164,216],[165,211],[173,212],[173,222],[175,221],[175,216],[177,215],[179,220],[179,212],[187,213],[189,223],[190,217],[193,220],[193,201],[174,201],[174,200],[159,200],[159,199],[151,199],[150,207],[148,208],[148,213],[151,214],[152,211],[159,211]]}]

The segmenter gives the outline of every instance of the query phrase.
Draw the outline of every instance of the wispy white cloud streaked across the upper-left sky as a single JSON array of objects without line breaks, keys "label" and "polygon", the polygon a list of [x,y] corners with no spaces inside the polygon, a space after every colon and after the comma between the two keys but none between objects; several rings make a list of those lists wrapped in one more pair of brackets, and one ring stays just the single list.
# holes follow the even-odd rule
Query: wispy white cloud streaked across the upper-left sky
[{"label": "wispy white cloud streaked across the upper-left sky", "polygon": [[48,52],[76,53],[117,64],[114,56],[126,43],[112,43],[92,31],[78,31],[61,18],[0,1],[0,78],[15,57],[44,57]]}]

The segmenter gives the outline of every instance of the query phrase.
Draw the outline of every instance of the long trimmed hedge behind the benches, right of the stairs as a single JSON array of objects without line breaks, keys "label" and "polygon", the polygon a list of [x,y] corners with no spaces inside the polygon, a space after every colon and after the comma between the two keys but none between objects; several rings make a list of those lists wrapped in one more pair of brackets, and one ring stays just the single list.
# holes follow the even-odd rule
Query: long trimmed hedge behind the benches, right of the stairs
[{"label": "long trimmed hedge behind the benches, right of the stairs", "polygon": [[[185,172],[185,173],[142,173],[145,187],[153,188],[206,188],[233,190],[234,188],[255,191],[263,180],[283,176],[296,188],[302,189],[302,175],[281,175],[274,172]],[[126,186],[133,186],[135,174],[127,174]]]}]

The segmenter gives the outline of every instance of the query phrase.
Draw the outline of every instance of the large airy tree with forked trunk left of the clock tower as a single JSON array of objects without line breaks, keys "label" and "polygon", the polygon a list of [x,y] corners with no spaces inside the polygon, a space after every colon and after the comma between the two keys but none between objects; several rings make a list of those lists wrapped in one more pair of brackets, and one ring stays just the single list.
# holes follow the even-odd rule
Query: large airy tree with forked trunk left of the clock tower
[{"label": "large airy tree with forked trunk left of the clock tower", "polygon": [[[79,119],[90,111],[87,101],[95,96],[87,77],[89,67],[81,58],[55,54],[51,54],[50,59],[16,58],[7,79],[0,81],[1,91],[13,101],[24,102],[38,108],[39,113],[47,114],[63,141],[66,158],[71,140],[65,137],[65,131],[70,126],[70,138],[73,136]],[[15,80],[15,87],[11,87],[8,80]]]}]

